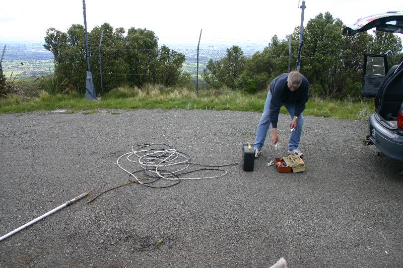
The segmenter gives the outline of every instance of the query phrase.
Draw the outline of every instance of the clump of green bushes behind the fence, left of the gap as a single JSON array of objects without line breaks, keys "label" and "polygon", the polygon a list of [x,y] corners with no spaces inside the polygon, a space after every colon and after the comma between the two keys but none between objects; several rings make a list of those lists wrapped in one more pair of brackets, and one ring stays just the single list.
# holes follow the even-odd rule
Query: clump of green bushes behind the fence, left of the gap
[{"label": "clump of green bushes behind the fence, left of the gap", "polygon": [[[90,67],[96,88],[101,87],[99,41],[102,30],[105,92],[125,84],[142,87],[147,83],[171,86],[179,81],[185,82],[181,70],[185,56],[165,45],[159,48],[153,31],[132,27],[127,36],[123,36],[123,28],[113,29],[104,23],[88,33]],[[87,71],[84,27],[75,24],[66,33],[49,28],[44,47],[54,55],[55,73],[67,78],[73,87],[84,93]]]}]

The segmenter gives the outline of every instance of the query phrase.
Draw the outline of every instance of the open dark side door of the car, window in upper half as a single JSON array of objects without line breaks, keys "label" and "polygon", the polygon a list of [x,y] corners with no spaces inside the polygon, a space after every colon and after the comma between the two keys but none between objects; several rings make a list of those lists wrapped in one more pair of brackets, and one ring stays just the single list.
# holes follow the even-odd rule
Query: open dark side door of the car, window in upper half
[{"label": "open dark side door of the car, window in upper half", "polygon": [[385,55],[366,54],[361,96],[374,98],[388,71]]}]

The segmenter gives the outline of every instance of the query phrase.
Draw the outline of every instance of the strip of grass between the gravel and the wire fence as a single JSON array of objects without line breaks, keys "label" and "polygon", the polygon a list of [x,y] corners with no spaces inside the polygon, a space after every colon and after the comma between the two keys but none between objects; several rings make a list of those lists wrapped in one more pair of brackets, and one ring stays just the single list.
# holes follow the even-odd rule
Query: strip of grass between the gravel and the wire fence
[{"label": "strip of grass between the gravel and the wire fence", "polygon": [[[262,112],[267,92],[254,95],[231,91],[228,88],[206,90],[201,88],[199,96],[194,89],[183,87],[164,87],[146,85],[144,88],[119,87],[104,94],[102,100],[88,101],[77,93],[51,95],[42,91],[37,98],[22,100],[17,95],[0,99],[0,113],[18,113],[24,111],[69,109],[66,114],[86,111],[92,114],[96,109],[207,109]],[[283,107],[280,111],[288,113]],[[351,102],[336,100],[310,99],[306,104],[304,115],[330,117],[339,119],[365,120],[374,112],[369,102]]]}]

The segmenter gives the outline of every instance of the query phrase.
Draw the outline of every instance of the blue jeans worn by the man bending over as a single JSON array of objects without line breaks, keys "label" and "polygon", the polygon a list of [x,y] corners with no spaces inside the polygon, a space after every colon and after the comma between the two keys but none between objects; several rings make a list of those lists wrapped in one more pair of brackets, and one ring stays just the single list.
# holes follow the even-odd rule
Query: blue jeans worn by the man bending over
[{"label": "blue jeans worn by the man bending over", "polygon": [[[264,145],[264,141],[266,140],[267,131],[271,124],[270,112],[268,110],[270,108],[271,100],[272,100],[272,94],[270,93],[270,91],[268,91],[266,102],[265,102],[264,108],[263,108],[263,114],[261,115],[259,125],[257,126],[256,139],[255,139],[255,142],[253,143],[253,147],[256,147],[259,150]],[[295,105],[284,104],[284,103],[282,105],[284,105],[287,108],[288,112],[290,113],[291,120],[292,120],[294,118]],[[290,150],[294,150],[294,149],[298,148],[298,145],[300,144],[303,125],[304,125],[304,116],[301,113],[300,116],[298,117],[297,127],[295,128],[295,131],[290,131],[291,137],[290,137],[290,140],[288,141],[288,148]]]}]

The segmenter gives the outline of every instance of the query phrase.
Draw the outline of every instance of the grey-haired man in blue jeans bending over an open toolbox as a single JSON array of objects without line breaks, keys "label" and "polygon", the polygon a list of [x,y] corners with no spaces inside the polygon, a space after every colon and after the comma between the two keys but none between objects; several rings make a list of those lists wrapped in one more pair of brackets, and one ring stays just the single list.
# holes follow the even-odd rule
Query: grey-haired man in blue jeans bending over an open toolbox
[{"label": "grey-haired man in blue jeans bending over an open toolbox", "polygon": [[263,114],[257,126],[256,139],[253,143],[255,158],[261,152],[270,124],[273,127],[273,144],[279,141],[277,122],[279,120],[280,108],[283,105],[287,108],[292,118],[288,153],[299,156],[303,155],[298,146],[304,124],[302,112],[305,110],[305,104],[308,101],[308,87],[309,83],[306,77],[296,71],[280,74],[270,83],[270,90],[267,93]]}]

